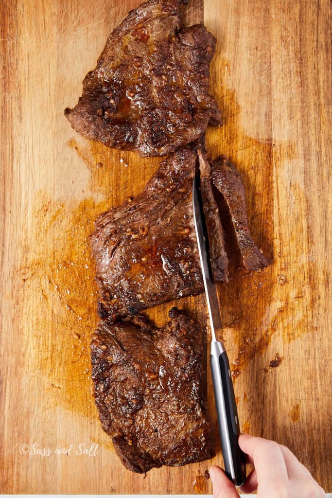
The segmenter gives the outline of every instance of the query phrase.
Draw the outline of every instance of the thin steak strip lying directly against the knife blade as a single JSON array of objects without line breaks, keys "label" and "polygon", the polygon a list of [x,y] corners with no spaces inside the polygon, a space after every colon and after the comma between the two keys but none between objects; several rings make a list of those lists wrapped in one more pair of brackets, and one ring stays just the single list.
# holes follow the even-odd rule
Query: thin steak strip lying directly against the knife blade
[{"label": "thin steak strip lying directly against the knife blade", "polygon": [[201,173],[201,195],[209,240],[212,277],[215,282],[228,282],[228,258],[217,202],[212,190],[211,168],[203,150],[198,150]]}]

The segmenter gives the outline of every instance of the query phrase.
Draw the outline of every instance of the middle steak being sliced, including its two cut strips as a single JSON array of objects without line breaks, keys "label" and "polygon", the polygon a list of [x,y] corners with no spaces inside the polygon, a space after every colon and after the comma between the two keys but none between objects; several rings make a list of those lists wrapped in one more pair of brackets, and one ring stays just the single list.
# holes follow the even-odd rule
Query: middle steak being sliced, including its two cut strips
[{"label": "middle steak being sliced, including its two cut strips", "polygon": [[[197,163],[194,147],[179,149],[163,161],[133,200],[101,215],[91,238],[100,291],[99,314],[115,321],[173,299],[203,292],[193,219],[192,186]],[[209,164],[200,153],[202,197],[213,277],[227,281],[227,256]],[[226,201],[238,247],[247,269],[266,266],[248,228],[244,187],[223,159],[212,178]]]}]

